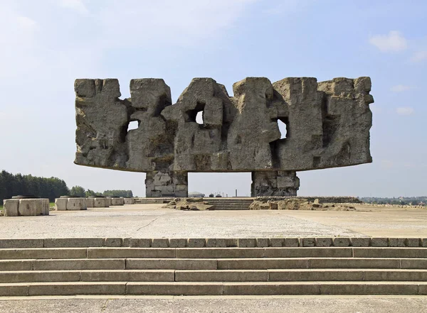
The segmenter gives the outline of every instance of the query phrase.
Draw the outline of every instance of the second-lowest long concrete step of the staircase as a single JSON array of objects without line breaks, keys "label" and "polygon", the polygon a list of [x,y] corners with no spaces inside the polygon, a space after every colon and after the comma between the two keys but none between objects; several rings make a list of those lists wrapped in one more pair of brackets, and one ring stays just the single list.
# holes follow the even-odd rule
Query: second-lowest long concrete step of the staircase
[{"label": "second-lowest long concrete step of the staircase", "polygon": [[298,282],[420,281],[427,270],[298,269],[298,270],[23,270],[0,272],[11,282]]}]

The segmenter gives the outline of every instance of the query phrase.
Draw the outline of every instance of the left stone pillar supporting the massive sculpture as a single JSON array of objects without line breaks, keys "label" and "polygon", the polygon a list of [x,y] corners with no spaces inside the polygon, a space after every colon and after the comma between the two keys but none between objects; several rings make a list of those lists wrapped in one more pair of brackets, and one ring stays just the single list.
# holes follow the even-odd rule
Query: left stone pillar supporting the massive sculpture
[{"label": "left stone pillar supporting the massive sculpture", "polygon": [[169,170],[147,172],[145,179],[146,197],[188,197],[188,177],[188,172]]}]

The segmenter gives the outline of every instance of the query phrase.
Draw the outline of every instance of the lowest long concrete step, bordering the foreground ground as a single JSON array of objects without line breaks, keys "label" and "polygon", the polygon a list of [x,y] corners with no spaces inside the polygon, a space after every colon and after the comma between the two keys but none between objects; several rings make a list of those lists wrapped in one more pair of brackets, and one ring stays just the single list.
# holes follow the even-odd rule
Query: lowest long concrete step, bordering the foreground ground
[{"label": "lowest long concrete step, bordering the foreground ground", "polygon": [[25,282],[0,296],[39,295],[427,295],[427,282]]}]

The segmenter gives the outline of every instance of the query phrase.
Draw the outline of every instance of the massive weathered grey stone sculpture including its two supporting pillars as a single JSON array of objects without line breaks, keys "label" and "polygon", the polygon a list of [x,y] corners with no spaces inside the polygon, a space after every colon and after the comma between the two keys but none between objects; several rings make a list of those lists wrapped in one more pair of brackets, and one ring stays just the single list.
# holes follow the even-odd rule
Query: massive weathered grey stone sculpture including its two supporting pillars
[{"label": "massive weathered grey stone sculpture including its two supporting pillars", "polygon": [[297,171],[371,163],[370,90],[369,77],[247,77],[229,97],[195,78],[172,105],[163,79],[132,79],[124,100],[117,79],[76,79],[75,163],[147,172],[147,197],[186,197],[188,172],[252,172],[253,197],[296,195]]}]

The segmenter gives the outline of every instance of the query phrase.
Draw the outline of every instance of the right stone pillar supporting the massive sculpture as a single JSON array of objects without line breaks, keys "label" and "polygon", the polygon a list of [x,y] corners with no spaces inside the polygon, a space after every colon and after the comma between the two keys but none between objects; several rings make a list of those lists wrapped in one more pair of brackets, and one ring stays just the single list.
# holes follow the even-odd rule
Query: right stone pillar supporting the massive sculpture
[{"label": "right stone pillar supporting the massive sculpture", "polygon": [[296,196],[300,179],[295,171],[263,170],[252,172],[251,196]]}]

